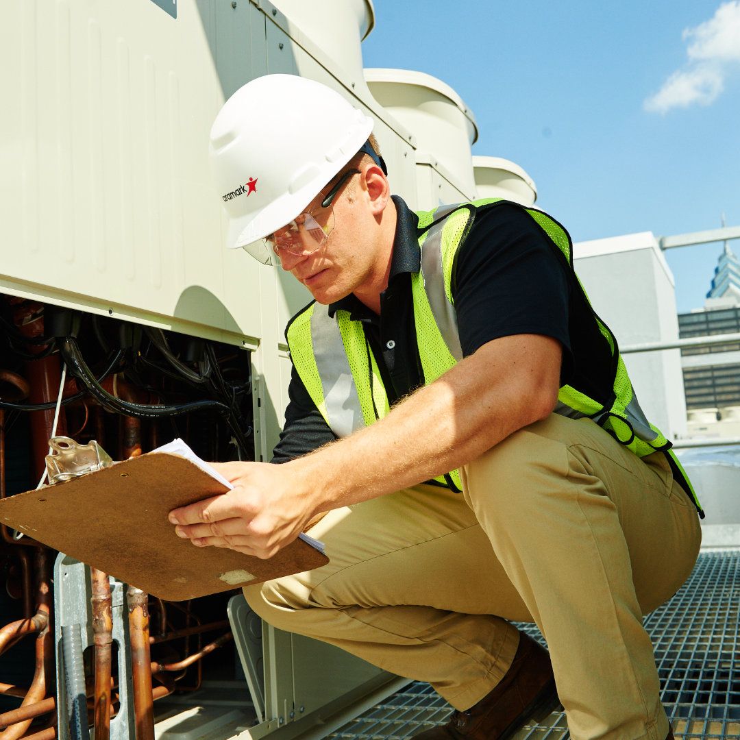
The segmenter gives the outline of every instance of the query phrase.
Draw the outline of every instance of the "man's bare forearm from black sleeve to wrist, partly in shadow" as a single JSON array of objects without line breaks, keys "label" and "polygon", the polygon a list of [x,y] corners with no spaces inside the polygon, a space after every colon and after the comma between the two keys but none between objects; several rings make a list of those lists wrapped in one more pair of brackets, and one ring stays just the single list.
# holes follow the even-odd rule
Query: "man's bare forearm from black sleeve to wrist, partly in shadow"
[{"label": "man's bare forearm from black sleeve to wrist, partly in shadow", "polygon": [[553,408],[560,347],[539,335],[503,337],[420,388],[388,416],[286,463],[315,511],[416,485],[474,460]]}]

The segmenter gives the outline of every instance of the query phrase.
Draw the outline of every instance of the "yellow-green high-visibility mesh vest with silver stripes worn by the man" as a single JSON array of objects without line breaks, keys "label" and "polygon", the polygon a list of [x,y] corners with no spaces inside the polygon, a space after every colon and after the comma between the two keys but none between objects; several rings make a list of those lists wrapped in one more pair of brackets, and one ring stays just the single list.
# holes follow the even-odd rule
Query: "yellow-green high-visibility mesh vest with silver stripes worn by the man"
[{"label": "yellow-green high-visibility mesh vest with silver stripes worn by the man", "polygon": [[[411,293],[425,385],[434,383],[462,360],[457,313],[451,292],[452,265],[457,250],[465,242],[475,213],[495,207],[499,202],[502,202],[500,198],[491,198],[417,213],[421,269],[411,275]],[[591,308],[591,302],[573,271],[573,243],[568,232],[546,213],[519,207],[542,227],[557,254],[565,258],[586,305]],[[613,392],[610,397],[597,400],[573,386],[562,386],[555,413],[571,418],[591,417],[638,457],[656,451],[665,452],[674,475],[703,516],[696,493],[670,450],[671,443],[647,420],[639,406],[616,338],[593,309],[591,313],[611,351],[609,385]],[[388,414],[388,394],[377,361],[362,324],[350,320],[349,312],[338,309],[334,317],[330,317],[327,306],[310,303],[289,323],[286,340],[300,379],[337,437],[346,437]],[[462,489],[457,470],[435,480],[453,490]]]}]

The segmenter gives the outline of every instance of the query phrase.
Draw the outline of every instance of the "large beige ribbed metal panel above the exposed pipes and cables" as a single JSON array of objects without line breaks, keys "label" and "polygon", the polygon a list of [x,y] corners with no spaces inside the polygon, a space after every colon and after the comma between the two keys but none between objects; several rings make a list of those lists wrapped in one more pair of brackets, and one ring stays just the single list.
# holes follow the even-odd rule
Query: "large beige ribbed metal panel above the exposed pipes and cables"
[{"label": "large beige ribbed metal panel above the exposed pipes and cables", "polygon": [[0,50],[5,283],[260,337],[260,280],[236,280],[221,249],[207,142],[221,78],[266,70],[263,15],[215,0],[181,0],[177,20],[150,0],[3,13],[18,30]]}]

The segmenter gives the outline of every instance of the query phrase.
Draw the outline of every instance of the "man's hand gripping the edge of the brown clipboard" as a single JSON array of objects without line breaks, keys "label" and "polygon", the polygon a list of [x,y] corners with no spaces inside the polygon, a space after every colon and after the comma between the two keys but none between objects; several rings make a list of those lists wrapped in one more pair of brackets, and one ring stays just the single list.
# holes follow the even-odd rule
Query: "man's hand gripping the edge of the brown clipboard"
[{"label": "man's hand gripping the edge of the brown clipboard", "polygon": [[193,545],[230,548],[269,558],[292,542],[314,514],[289,463],[212,462],[232,491],[169,513],[178,536]]}]

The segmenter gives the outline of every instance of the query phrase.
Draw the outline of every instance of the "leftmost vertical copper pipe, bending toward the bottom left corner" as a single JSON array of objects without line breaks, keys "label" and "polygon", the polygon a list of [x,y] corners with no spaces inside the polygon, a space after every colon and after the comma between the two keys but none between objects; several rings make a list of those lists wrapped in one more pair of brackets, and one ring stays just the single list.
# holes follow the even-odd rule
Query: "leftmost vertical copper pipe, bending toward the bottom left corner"
[{"label": "leftmost vertical copper pipe, bending toward the bottom left corner", "polygon": [[[44,699],[47,691],[47,676],[52,675],[53,634],[50,630],[51,589],[49,588],[49,562],[47,553],[39,548],[36,551],[36,614],[27,620],[38,628],[36,636],[36,671],[33,682],[21,704],[36,704]],[[26,719],[10,725],[0,732],[0,740],[19,740],[33,720]]]}]

